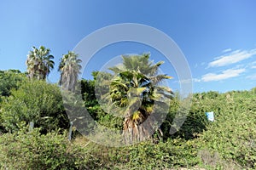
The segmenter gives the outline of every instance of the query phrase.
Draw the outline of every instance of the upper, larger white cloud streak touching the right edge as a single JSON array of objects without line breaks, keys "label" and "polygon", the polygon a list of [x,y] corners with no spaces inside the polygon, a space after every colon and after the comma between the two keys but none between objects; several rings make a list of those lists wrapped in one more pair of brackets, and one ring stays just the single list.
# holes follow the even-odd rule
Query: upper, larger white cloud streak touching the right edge
[{"label": "upper, larger white cloud streak touching the right edge", "polygon": [[256,54],[256,48],[252,50],[236,50],[230,52],[229,54],[224,54],[215,58],[216,60],[210,62],[208,64],[209,67],[217,67],[217,66],[224,66],[237,63],[243,59],[248,59]]}]

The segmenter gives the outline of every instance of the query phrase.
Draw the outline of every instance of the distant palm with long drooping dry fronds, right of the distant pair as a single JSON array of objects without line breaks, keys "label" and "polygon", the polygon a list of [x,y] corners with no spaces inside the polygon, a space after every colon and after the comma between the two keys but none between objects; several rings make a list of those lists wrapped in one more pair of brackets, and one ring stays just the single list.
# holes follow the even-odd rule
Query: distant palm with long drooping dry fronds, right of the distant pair
[{"label": "distant palm with long drooping dry fronds, right of the distant pair", "polygon": [[82,60],[78,58],[78,54],[68,51],[68,54],[63,54],[59,65],[59,71],[61,71],[60,85],[69,91],[74,91],[82,68],[80,65]]}]

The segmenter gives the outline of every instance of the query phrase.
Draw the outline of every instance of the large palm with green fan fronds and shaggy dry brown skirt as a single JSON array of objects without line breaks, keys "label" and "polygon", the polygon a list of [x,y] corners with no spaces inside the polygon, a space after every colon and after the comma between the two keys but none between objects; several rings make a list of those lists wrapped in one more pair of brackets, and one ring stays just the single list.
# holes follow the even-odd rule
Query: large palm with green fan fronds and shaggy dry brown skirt
[{"label": "large palm with green fan fronds and shaggy dry brown skirt", "polygon": [[109,82],[109,94],[103,98],[112,103],[108,104],[112,111],[118,108],[115,112],[119,110],[119,114],[125,117],[125,143],[148,138],[155,130],[154,123],[158,119],[154,114],[158,112],[155,111],[156,105],[158,109],[166,108],[161,104],[166,104],[166,99],[172,98],[172,90],[160,86],[164,79],[172,78],[157,74],[162,64],[162,61],[154,64],[149,61],[149,54],[143,54],[123,56],[123,65],[109,68],[114,72],[114,77]]}]

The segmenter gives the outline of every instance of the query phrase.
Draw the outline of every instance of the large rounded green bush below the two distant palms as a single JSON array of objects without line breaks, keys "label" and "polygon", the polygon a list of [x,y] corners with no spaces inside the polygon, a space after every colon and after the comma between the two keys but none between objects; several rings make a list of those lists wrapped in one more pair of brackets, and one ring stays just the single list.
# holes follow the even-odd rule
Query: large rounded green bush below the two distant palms
[{"label": "large rounded green bush below the two distant palms", "polygon": [[23,82],[13,89],[1,105],[0,121],[9,131],[15,131],[19,122],[34,122],[44,133],[68,127],[60,89],[44,81]]}]

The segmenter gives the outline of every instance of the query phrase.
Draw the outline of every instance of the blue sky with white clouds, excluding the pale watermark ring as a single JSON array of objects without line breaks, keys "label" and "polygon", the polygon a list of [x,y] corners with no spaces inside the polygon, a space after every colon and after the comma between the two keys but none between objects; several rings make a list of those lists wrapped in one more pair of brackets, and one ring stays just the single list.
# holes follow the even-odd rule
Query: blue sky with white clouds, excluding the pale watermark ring
[{"label": "blue sky with white clouds, excluding the pale watermark ring", "polygon": [[[55,56],[50,82],[60,77],[57,65],[84,37],[104,26],[139,23],[171,37],[183,51],[193,76],[193,91],[244,90],[256,86],[256,1],[120,1],[25,0],[1,1],[0,70],[26,71],[26,54],[44,45]],[[124,42],[102,48],[84,77],[119,54],[150,52],[155,61],[164,56],[143,44]],[[162,70],[179,81],[170,63]]]}]

